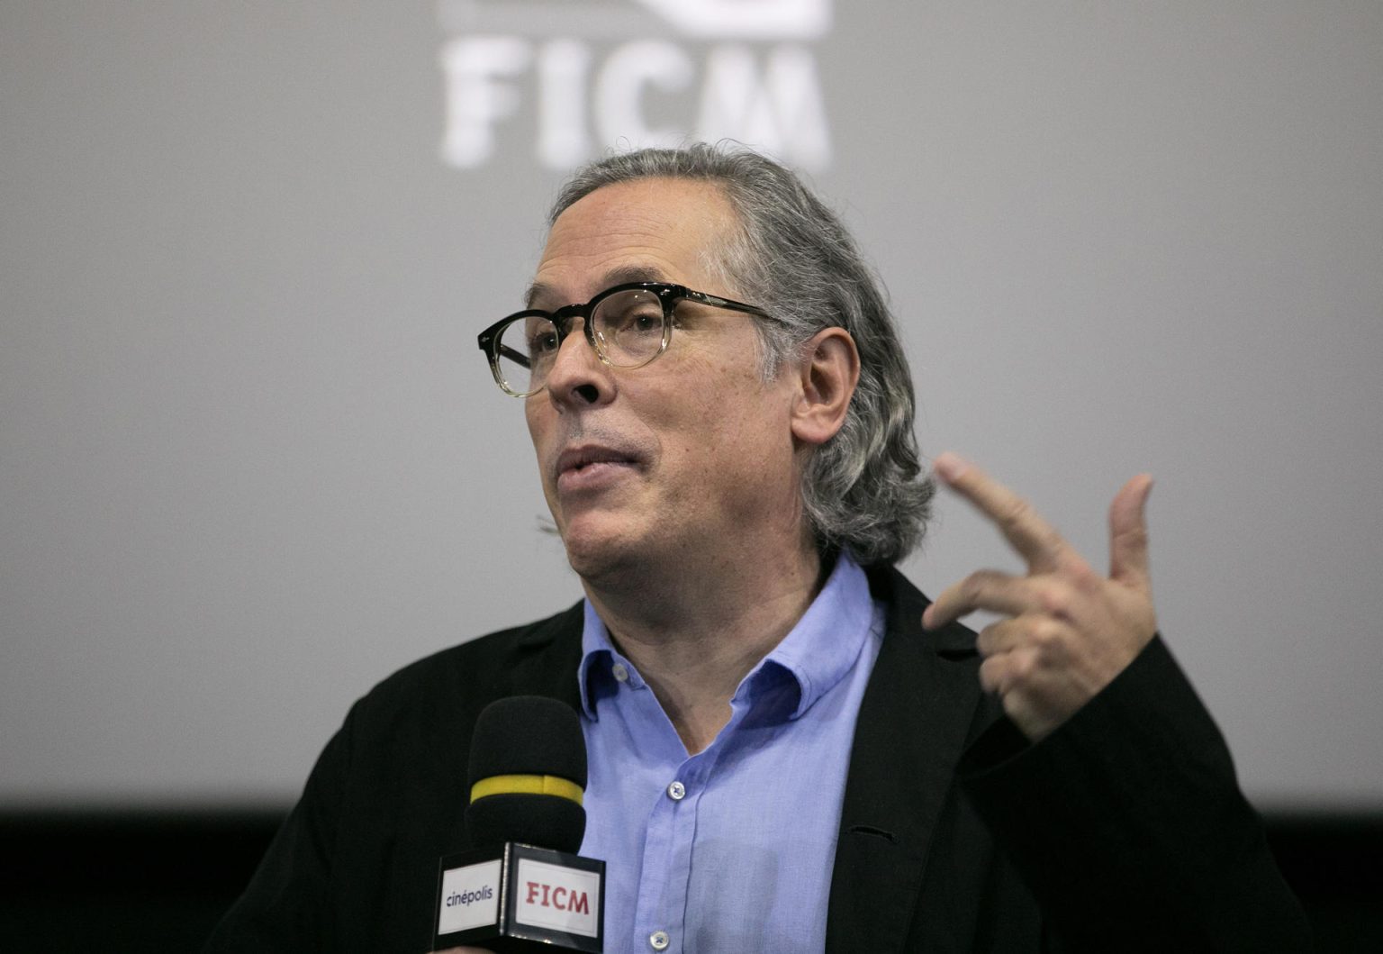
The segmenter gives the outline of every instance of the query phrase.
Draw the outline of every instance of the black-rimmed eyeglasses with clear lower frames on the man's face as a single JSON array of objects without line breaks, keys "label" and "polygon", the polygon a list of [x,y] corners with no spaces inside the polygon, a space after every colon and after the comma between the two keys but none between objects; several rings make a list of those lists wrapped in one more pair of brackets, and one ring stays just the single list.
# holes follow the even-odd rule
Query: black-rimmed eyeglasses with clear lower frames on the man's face
[{"label": "black-rimmed eyeglasses with clear lower frames on the man's face", "polygon": [[480,350],[490,359],[501,390],[527,397],[546,386],[573,318],[585,318],[586,342],[604,364],[642,368],[668,350],[675,324],[672,313],[682,300],[772,317],[752,305],[694,292],[685,285],[632,281],[606,288],[585,305],[567,305],[556,312],[516,312],[480,332]]}]

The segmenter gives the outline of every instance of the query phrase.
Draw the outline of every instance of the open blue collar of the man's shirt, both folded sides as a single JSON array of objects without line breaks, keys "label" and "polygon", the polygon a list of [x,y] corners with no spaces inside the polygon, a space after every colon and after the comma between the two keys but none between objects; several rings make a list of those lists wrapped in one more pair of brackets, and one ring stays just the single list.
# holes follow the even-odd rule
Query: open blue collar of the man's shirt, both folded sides
[{"label": "open blue collar of the man's shirt, both folded sides", "polygon": [[[581,708],[596,717],[596,687],[609,687],[606,680],[611,666],[628,670],[628,684],[640,688],[644,683],[633,665],[610,641],[610,631],[596,615],[591,601],[585,601],[585,623],[581,631],[581,666],[577,672],[581,688]],[[747,699],[751,687],[774,676],[786,674],[797,685],[797,706],[790,719],[797,719],[812,703],[826,695],[855,665],[874,619],[874,604],[869,579],[849,552],[841,552],[826,586],[808,606],[783,641],[750,670],[734,692],[736,702]]]}]

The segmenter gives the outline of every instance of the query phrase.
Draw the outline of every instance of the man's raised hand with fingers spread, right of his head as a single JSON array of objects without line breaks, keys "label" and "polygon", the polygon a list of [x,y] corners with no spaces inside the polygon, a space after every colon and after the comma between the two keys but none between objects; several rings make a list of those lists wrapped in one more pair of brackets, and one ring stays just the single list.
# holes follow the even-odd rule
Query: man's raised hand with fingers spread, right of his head
[{"label": "man's raised hand with fingers spread, right of his head", "polygon": [[922,624],[938,629],[976,609],[1007,618],[979,633],[979,681],[1036,742],[1105,688],[1156,633],[1144,521],[1152,478],[1129,480],[1109,507],[1105,577],[978,467],[945,453],[934,469],[999,528],[1028,562],[1028,575],[976,570],[942,593]]}]

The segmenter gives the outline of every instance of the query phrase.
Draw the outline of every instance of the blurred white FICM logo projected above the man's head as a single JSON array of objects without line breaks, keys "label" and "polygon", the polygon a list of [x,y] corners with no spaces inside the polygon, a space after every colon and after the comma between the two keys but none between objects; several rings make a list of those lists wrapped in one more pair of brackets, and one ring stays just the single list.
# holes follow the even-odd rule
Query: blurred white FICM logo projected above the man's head
[{"label": "blurred white FICM logo projected above the man's head", "polygon": [[611,145],[733,138],[830,165],[830,0],[440,0],[443,159],[571,169]]}]

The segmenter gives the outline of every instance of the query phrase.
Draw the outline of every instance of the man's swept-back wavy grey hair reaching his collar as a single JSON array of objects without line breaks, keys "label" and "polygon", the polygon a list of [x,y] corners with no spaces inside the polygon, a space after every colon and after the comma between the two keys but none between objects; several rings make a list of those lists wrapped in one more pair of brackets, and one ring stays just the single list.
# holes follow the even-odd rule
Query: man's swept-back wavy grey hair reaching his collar
[{"label": "man's swept-back wavy grey hair reaching his collar", "polygon": [[[812,454],[802,507],[823,551],[891,564],[922,539],[936,490],[913,436],[913,379],[874,270],[841,220],[784,166],[745,148],[696,143],[610,155],[578,169],[549,226],[578,199],[636,179],[692,179],[721,187],[740,234],[709,262],[776,321],[757,323],[765,379],[822,328],[845,328],[860,379],[839,432]],[[716,291],[716,289],[708,289]]]}]

